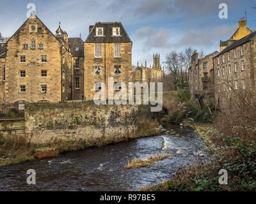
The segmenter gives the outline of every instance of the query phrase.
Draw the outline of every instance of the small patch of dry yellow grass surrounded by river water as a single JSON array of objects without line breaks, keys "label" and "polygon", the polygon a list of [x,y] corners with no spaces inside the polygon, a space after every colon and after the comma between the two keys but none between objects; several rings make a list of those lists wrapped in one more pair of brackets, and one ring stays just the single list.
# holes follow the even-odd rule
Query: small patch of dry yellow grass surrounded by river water
[{"label": "small patch of dry yellow grass surrounded by river water", "polygon": [[170,157],[170,154],[157,154],[156,156],[150,156],[147,160],[142,160],[140,158],[132,159],[132,161],[129,161],[128,164],[124,166],[124,168],[141,168],[145,166],[150,166],[157,161],[166,159]]}]

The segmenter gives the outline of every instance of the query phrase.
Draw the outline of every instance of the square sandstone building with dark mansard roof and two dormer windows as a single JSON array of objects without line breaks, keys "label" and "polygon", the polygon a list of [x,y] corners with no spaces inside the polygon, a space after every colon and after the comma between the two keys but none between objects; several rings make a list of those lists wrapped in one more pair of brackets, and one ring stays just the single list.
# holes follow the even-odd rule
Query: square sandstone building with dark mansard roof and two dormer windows
[{"label": "square sandstone building with dark mansard roof and two dormer windows", "polygon": [[[122,91],[122,82],[128,87],[131,68],[132,41],[122,23],[97,22],[90,25],[84,42],[85,99],[93,99],[104,84],[106,98],[113,98],[109,93]],[[113,77],[113,84],[109,84],[109,77]]]}]

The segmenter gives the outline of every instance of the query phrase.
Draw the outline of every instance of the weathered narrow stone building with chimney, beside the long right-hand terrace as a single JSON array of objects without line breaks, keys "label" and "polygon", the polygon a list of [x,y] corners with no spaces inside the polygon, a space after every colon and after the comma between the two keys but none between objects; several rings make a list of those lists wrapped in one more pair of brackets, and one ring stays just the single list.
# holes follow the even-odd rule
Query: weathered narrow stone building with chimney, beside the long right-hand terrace
[{"label": "weathered narrow stone building with chimney, beside the long right-hand terrace", "polygon": [[218,54],[217,51],[200,59],[198,57],[198,52],[195,50],[191,56],[191,67],[188,69],[189,93],[191,99],[200,106],[214,103],[212,59],[216,54]]}]

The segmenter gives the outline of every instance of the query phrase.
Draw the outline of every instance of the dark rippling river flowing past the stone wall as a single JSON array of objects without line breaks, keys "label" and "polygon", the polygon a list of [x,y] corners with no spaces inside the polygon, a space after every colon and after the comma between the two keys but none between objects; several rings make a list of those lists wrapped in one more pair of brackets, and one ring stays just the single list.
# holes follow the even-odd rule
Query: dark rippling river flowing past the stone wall
[{"label": "dark rippling river flowing past the stone wall", "polygon": [[[179,133],[179,127],[172,127]],[[0,191],[139,191],[172,178],[183,166],[209,162],[211,155],[190,129],[180,136],[152,136],[106,147],[70,152],[60,157],[0,167]],[[172,157],[152,166],[124,169],[127,161],[157,153]],[[28,185],[27,170],[36,171],[36,184]]]}]

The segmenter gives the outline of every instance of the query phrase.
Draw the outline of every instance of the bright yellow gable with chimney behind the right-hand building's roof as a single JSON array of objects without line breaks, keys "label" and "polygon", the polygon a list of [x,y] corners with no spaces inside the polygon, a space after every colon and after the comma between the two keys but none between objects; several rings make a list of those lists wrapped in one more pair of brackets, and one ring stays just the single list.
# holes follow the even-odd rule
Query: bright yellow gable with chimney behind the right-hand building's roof
[{"label": "bright yellow gable with chimney behind the right-hand building's roof", "polygon": [[231,38],[227,41],[220,41],[220,51],[222,51],[224,48],[230,46],[234,41],[240,40],[241,38],[244,38],[248,34],[252,33],[250,29],[247,27],[247,22],[244,20],[244,17],[241,18],[241,20],[238,22],[238,29],[236,32],[231,36]]}]

